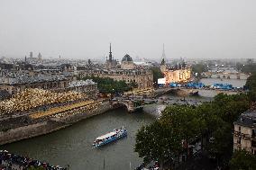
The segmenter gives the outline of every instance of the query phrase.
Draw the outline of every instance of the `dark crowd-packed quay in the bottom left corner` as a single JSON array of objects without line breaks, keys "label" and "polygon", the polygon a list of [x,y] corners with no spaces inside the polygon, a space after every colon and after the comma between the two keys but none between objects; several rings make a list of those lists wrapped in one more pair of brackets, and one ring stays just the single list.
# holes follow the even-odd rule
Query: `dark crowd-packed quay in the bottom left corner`
[{"label": "dark crowd-packed quay in the bottom left corner", "polygon": [[7,150],[0,150],[0,170],[26,170],[28,168],[42,167],[46,170],[68,170],[69,167],[51,166],[47,162],[23,157],[9,153]]}]

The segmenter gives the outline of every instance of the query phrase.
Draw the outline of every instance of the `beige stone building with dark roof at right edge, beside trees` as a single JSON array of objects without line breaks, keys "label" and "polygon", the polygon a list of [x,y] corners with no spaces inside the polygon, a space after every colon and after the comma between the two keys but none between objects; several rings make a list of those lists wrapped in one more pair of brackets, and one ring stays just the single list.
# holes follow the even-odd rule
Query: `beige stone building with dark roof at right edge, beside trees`
[{"label": "beige stone building with dark roof at right edge, beside trees", "polygon": [[256,110],[243,112],[233,126],[233,149],[256,155]]}]

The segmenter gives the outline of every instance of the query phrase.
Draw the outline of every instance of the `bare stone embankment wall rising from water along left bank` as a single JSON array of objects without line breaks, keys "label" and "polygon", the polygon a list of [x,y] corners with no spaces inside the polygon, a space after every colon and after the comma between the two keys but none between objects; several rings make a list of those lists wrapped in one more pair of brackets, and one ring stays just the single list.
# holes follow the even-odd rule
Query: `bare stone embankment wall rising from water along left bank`
[{"label": "bare stone embankment wall rising from water along left bank", "polygon": [[104,113],[110,109],[112,109],[111,104],[109,104],[109,102],[105,102],[100,104],[92,112],[88,113],[87,111],[85,111],[82,113],[74,114],[66,118],[65,120],[54,121],[54,119],[50,119],[49,121],[37,122],[11,130],[0,131],[0,145],[11,143],[21,139],[30,139],[32,137],[60,130],[72,125],[74,122],[81,121],[88,117]]}]

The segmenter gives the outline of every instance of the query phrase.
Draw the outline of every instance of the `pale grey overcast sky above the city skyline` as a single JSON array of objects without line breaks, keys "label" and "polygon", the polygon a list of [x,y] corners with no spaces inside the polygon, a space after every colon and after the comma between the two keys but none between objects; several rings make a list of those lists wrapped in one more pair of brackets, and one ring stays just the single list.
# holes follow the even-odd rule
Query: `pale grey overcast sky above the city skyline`
[{"label": "pale grey overcast sky above the city skyline", "polygon": [[256,58],[255,0],[0,0],[0,57]]}]

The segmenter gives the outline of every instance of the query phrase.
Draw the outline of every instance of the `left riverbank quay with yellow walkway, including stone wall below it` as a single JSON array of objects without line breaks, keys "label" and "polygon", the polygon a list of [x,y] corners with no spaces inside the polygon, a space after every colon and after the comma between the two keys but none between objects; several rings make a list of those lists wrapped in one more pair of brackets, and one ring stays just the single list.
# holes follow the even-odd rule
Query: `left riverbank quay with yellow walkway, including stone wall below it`
[{"label": "left riverbank quay with yellow walkway, including stone wall below it", "polygon": [[0,145],[60,130],[111,109],[108,101],[83,101],[0,120]]}]

